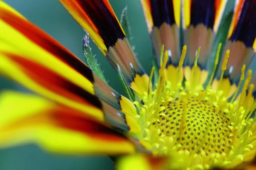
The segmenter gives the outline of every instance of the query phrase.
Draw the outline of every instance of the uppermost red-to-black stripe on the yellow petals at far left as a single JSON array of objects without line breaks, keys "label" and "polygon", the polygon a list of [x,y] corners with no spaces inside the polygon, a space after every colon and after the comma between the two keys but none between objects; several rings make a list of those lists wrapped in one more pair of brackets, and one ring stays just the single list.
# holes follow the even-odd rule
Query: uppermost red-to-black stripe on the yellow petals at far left
[{"label": "uppermost red-to-black stripe on the yellow petals at far left", "polygon": [[[17,29],[26,36],[28,39],[32,40],[42,48],[49,51],[55,57],[65,62],[67,65],[72,67],[74,70],[81,73],[84,77],[93,82],[93,74],[90,68],[88,68],[83,62],[77,59],[70,51],[60,45],[52,37],[46,34],[44,31],[23,20],[20,17],[10,13],[9,11],[4,11],[0,13],[0,18],[8,23],[13,28]],[[15,41],[15,40],[13,40]]]}]

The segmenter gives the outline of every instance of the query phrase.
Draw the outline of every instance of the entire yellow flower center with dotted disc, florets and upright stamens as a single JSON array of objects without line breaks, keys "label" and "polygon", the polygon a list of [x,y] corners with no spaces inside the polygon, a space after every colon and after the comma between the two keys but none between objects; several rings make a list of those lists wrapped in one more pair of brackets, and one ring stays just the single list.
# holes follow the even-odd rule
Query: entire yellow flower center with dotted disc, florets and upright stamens
[{"label": "entire yellow flower center with dotted disc, florets and upright stamens", "polygon": [[[166,53],[155,90],[150,90],[149,85],[140,103],[134,103],[140,108],[135,117],[143,130],[140,142],[154,156],[169,156],[171,169],[231,168],[253,159],[256,153],[256,118],[251,117],[256,106],[253,85],[247,91],[251,72],[241,94],[236,97],[241,83],[235,91],[230,85],[231,92],[227,92],[227,79],[223,79],[223,75],[218,81],[215,79],[211,83],[210,80],[205,88],[204,82],[195,82],[195,77],[182,83],[178,78],[183,74],[182,57],[177,72],[173,73],[175,79],[166,79],[167,57]],[[226,69],[228,56],[225,59],[222,71]],[[195,62],[190,71],[195,73],[196,67]],[[232,95],[235,97],[230,99]]]}]

